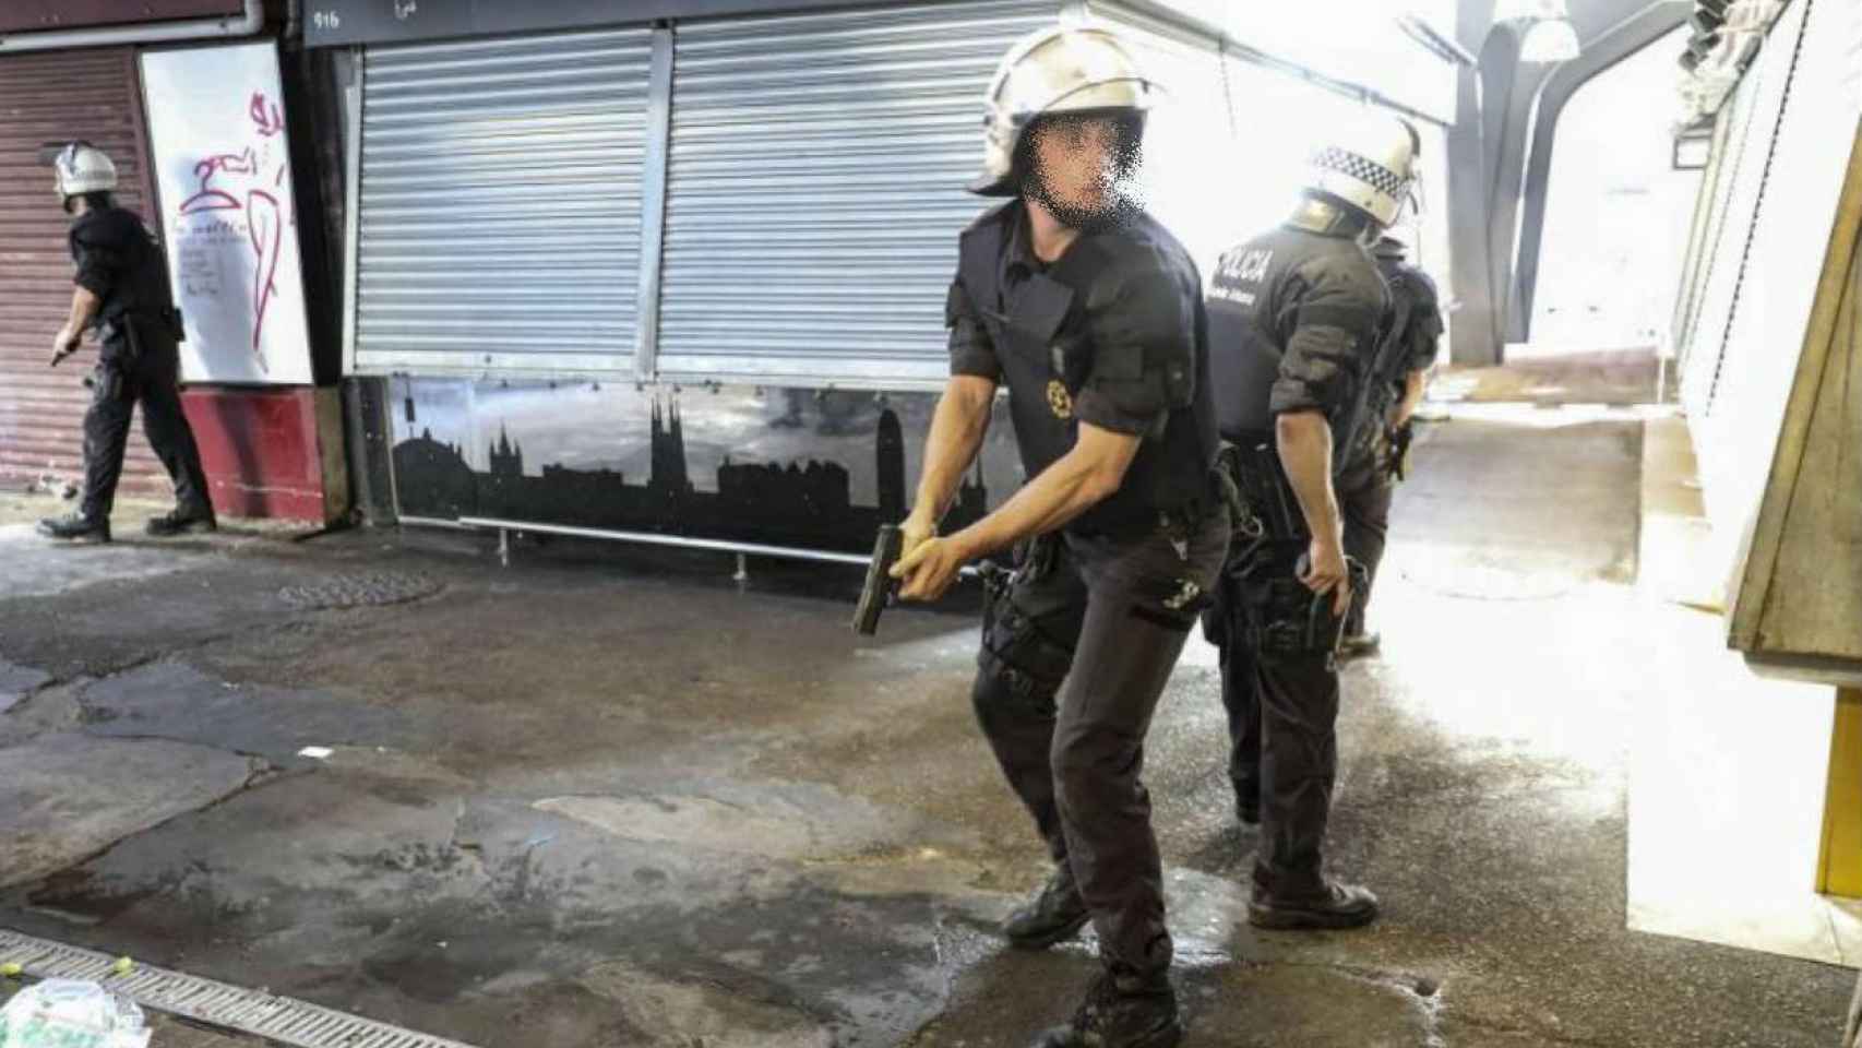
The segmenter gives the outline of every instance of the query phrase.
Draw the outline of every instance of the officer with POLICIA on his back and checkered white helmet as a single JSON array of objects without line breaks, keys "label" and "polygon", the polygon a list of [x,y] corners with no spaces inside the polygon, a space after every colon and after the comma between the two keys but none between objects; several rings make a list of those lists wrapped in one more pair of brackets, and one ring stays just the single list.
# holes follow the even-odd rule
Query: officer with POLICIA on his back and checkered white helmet
[{"label": "officer with POLICIA on his back and checkered white helmet", "polygon": [[1419,143],[1396,119],[1341,130],[1313,155],[1292,218],[1229,249],[1208,296],[1223,464],[1244,514],[1205,624],[1221,650],[1236,813],[1261,823],[1248,918],[1270,929],[1378,914],[1320,854],[1352,599],[1333,471],[1354,447],[1385,307],[1365,244],[1396,218]]}]

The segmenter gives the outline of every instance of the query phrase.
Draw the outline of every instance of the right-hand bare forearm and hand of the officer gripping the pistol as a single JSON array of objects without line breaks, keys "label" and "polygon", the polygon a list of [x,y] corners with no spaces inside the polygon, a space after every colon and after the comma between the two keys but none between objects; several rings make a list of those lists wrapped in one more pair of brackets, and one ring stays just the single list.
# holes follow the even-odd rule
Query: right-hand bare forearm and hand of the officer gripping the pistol
[{"label": "right-hand bare forearm and hand of the officer gripping the pistol", "polygon": [[1073,450],[1022,486],[996,512],[950,536],[965,560],[1046,534],[1104,503],[1138,458],[1138,437],[1080,423]]}]

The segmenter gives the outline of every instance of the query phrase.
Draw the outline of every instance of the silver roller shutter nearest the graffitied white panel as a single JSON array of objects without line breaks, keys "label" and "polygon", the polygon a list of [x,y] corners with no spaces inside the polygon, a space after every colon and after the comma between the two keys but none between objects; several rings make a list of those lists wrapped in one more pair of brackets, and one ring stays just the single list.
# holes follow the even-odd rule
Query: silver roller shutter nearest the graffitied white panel
[{"label": "silver roller shutter nearest the graffitied white panel", "polygon": [[354,367],[631,372],[652,32],[371,48]]}]

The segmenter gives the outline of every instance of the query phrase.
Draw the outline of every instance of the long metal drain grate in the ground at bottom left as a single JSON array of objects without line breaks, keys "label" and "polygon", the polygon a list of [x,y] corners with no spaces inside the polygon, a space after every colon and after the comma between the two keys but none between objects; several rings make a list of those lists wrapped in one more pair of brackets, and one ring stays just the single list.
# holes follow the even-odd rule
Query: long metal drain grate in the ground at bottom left
[{"label": "long metal drain grate in the ground at bottom left", "polygon": [[292,998],[138,964],[112,975],[115,959],[48,938],[0,929],[0,962],[39,979],[91,979],[138,1005],[298,1048],[471,1048]]}]

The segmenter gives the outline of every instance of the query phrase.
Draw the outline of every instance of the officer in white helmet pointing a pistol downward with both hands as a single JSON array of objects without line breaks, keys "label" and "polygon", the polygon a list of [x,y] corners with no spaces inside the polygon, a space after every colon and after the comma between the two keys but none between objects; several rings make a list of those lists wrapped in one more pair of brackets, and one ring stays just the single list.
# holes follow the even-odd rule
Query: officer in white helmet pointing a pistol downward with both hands
[{"label": "officer in white helmet pointing a pistol downward with both hands", "polygon": [[[1134,201],[1154,87],[1100,28],[1037,32],[989,89],[983,195],[1015,197],[959,242],[951,378],[901,525],[901,596],[1022,544],[992,592],[972,691],[983,735],[1054,858],[1004,925],[1020,947],[1087,920],[1102,974],[1037,1046],[1164,1048],[1164,873],[1140,782],[1158,696],[1229,538],[1212,475],[1216,419],[1201,277]],[[950,536],[937,521],[989,426],[998,385],[1030,480]]]}]

